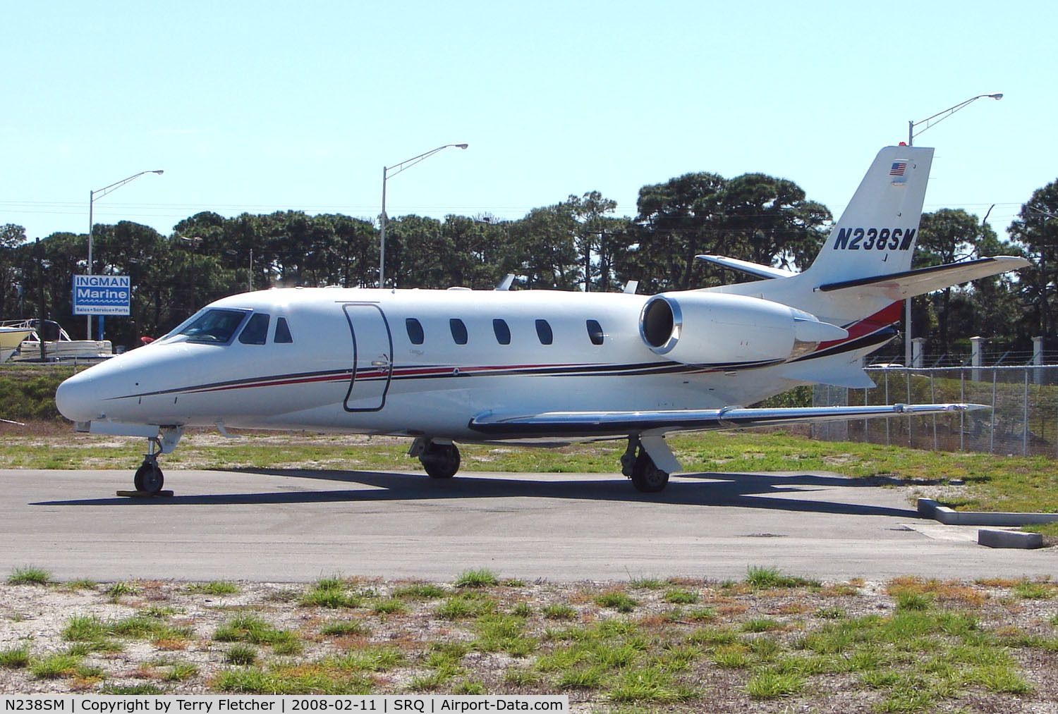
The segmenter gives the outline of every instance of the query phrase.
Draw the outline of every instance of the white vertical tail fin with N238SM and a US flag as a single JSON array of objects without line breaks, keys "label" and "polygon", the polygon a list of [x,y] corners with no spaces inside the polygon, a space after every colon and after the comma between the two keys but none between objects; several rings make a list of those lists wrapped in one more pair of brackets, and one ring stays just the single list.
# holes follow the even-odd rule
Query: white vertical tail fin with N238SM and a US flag
[{"label": "white vertical tail fin with N238SM and a US flag", "polygon": [[805,276],[816,285],[910,270],[933,149],[887,146]]}]

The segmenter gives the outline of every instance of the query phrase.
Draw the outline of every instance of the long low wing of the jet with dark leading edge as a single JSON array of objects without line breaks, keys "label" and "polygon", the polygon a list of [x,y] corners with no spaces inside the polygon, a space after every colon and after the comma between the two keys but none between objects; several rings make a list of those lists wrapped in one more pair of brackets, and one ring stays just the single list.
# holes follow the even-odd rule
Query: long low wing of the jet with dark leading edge
[{"label": "long low wing of the jet with dark leading edge", "polygon": [[498,438],[614,436],[664,434],[774,426],[813,421],[843,421],[878,417],[950,414],[987,409],[984,404],[886,404],[879,406],[805,406],[784,408],[669,409],[657,411],[545,411],[542,414],[480,414],[470,428]]}]

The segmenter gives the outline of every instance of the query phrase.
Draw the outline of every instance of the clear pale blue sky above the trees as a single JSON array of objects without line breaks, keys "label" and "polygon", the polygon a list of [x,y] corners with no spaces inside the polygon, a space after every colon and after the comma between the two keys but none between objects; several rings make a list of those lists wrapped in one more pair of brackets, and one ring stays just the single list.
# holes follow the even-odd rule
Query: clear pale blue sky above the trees
[{"label": "clear pale blue sky above the trees", "polygon": [[[737,5],[737,6],[736,6]],[[0,224],[30,238],[200,210],[519,218],[689,171],[796,181],[836,215],[932,127],[926,209],[1002,231],[1058,178],[1058,5],[658,0],[3,3]]]}]

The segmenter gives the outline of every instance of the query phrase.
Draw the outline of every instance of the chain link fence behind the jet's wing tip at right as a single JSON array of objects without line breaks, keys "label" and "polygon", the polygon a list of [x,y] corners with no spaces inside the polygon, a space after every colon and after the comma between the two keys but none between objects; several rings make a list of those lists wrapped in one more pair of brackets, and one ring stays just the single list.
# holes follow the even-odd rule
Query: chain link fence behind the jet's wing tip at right
[{"label": "chain link fence behind the jet's wing tip at right", "polygon": [[813,425],[824,441],[1058,458],[1058,365],[869,368],[874,389],[817,385],[815,406],[984,404],[988,409]]}]

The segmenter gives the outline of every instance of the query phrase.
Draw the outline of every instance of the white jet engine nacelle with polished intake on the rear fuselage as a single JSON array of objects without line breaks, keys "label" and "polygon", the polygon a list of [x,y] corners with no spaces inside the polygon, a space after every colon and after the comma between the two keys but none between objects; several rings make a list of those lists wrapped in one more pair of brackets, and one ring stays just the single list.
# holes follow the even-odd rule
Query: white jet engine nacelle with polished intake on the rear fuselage
[{"label": "white jet engine nacelle with polished intake on the rear fuselage", "polygon": [[646,300],[639,334],[655,354],[694,365],[786,362],[849,332],[780,303],[709,292]]}]

